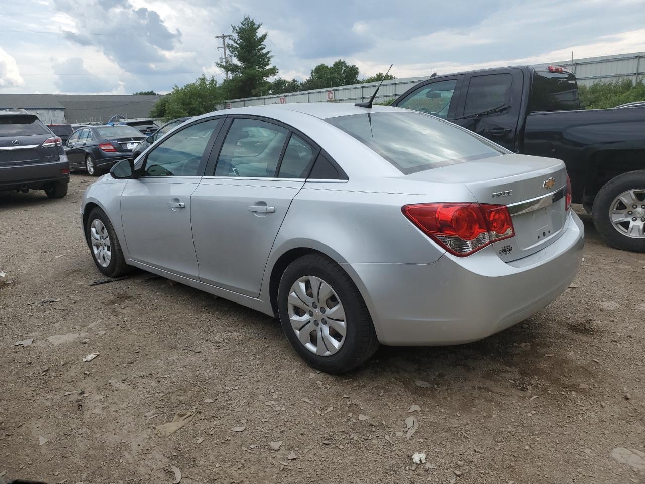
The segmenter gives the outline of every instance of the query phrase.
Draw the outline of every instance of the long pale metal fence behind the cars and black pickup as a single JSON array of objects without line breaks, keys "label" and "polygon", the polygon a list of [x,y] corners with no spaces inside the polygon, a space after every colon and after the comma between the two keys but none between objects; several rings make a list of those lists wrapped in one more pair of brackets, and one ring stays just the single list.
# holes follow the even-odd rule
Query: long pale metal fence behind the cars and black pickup
[{"label": "long pale metal fence behind the cars and black pickup", "polygon": [[[636,54],[606,55],[604,57],[590,57],[577,61],[563,61],[543,63],[559,65],[573,70],[581,85],[590,85],[595,82],[606,82],[614,79],[631,77],[635,83],[645,79],[645,52]],[[444,73],[442,73],[444,74]],[[448,74],[447,72],[445,74]],[[406,77],[384,81],[376,96],[376,102],[387,101],[403,94],[413,85],[428,79],[429,76]],[[378,82],[353,84],[350,86],[330,87],[328,89],[315,89],[303,92],[290,92],[262,97],[246,97],[245,99],[232,99],[225,101],[221,109],[241,108],[244,106],[261,106],[267,104],[288,103],[321,103],[336,101],[339,103],[360,103],[368,101]]]}]

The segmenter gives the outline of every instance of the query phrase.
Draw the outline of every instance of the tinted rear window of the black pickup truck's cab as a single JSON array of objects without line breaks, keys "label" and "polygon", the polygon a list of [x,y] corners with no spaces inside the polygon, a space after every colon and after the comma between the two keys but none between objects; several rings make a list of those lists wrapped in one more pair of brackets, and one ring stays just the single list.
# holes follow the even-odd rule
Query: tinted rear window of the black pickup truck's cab
[{"label": "tinted rear window of the black pickup truck's cab", "polygon": [[570,72],[536,71],[531,92],[531,112],[580,109],[578,83]]}]

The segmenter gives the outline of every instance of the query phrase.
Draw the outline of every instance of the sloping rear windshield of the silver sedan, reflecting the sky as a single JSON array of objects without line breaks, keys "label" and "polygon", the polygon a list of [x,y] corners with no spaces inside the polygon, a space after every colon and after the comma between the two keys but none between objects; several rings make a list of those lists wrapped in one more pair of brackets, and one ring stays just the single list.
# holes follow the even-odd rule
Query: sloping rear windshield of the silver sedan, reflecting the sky
[{"label": "sloping rear windshield of the silver sedan, reflecting the sky", "polygon": [[507,153],[501,146],[428,114],[375,112],[326,121],[372,148],[404,174]]}]

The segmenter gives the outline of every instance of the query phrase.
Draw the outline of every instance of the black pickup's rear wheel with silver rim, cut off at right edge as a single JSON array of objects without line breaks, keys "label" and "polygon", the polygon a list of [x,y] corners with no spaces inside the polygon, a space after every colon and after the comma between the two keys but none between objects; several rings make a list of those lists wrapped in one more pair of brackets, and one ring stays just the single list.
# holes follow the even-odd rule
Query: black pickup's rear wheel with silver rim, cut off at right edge
[{"label": "black pickup's rear wheel with silver rim, cut off at right edge", "polygon": [[645,252],[645,170],[623,173],[605,183],[593,200],[591,216],[606,243]]}]

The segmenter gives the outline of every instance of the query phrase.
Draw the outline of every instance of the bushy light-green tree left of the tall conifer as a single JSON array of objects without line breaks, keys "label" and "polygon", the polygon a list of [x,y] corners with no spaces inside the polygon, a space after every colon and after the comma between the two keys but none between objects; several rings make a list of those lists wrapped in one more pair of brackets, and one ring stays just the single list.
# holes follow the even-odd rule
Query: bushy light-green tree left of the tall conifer
[{"label": "bushy light-green tree left of the tall conifer", "polygon": [[[177,117],[199,116],[217,110],[217,105],[224,101],[222,90],[217,86],[214,76],[210,79],[204,74],[197,77],[192,83],[184,86],[175,85],[167,98],[163,118],[175,119]],[[161,99],[157,102],[161,102]],[[157,107],[153,109],[155,109]],[[152,113],[151,113],[152,116]]]}]

